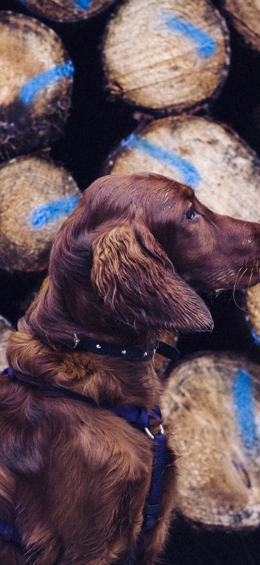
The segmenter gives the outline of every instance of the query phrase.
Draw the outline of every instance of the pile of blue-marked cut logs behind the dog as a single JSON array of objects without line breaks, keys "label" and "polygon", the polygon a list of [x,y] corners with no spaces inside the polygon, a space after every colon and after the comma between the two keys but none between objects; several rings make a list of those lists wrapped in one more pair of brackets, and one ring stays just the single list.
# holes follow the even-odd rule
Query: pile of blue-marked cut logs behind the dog
[{"label": "pile of blue-marked cut logs behind the dog", "polygon": [[[104,172],[161,172],[218,212],[260,220],[260,6],[2,0],[1,10],[3,368],[8,333],[46,275],[60,222]],[[30,38],[35,29],[42,46]],[[165,414],[183,471],[162,563],[259,565],[258,445],[241,447],[240,428],[257,437],[260,427],[260,286],[203,298],[214,331],[179,336],[182,357],[168,377]]]}]

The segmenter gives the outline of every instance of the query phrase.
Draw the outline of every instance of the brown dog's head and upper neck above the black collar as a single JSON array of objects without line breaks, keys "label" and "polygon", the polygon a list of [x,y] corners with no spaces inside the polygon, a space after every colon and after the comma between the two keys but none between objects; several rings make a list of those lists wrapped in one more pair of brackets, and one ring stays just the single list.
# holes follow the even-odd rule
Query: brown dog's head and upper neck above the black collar
[{"label": "brown dog's head and upper neck above the black collar", "polygon": [[144,336],[211,329],[196,290],[255,284],[259,257],[260,225],[214,214],[191,188],[148,173],[102,177],[60,229],[30,322],[35,329],[41,314],[48,336],[59,319],[52,344],[67,340],[68,326],[70,342],[79,327]]}]

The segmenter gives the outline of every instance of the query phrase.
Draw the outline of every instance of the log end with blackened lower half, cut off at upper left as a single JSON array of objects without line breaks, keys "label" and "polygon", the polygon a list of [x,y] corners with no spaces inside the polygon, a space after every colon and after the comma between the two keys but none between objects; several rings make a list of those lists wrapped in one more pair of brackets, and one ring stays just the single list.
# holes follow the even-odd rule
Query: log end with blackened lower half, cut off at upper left
[{"label": "log end with blackened lower half, cut off at upper left", "polygon": [[68,118],[73,72],[52,29],[0,12],[0,160],[58,140]]}]

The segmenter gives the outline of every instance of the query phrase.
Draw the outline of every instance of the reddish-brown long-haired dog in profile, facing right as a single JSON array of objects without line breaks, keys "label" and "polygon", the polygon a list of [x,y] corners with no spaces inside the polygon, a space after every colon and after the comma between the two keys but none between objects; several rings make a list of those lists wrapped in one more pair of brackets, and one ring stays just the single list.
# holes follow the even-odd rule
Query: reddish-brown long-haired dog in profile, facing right
[{"label": "reddish-brown long-haired dog in profile, facing right", "polygon": [[[1,539],[1,563],[124,563],[142,527],[153,442],[100,402],[150,411],[163,384],[152,359],[80,351],[75,334],[147,348],[165,330],[211,329],[194,289],[253,285],[259,258],[259,224],[214,214],[171,179],[107,176],[85,191],[10,338],[8,362],[16,375],[85,394],[98,407],[1,377],[0,518],[24,544]],[[168,447],[159,518],[139,565],[155,563],[164,545],[174,460]]]}]

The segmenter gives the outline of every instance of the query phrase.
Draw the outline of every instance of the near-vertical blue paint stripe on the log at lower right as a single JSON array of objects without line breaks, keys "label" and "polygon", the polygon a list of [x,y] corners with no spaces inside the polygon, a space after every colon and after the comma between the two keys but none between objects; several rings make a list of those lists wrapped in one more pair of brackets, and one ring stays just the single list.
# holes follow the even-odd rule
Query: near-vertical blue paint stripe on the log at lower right
[{"label": "near-vertical blue paint stripe on the log at lower right", "polygon": [[256,453],[259,449],[259,433],[255,422],[252,378],[248,371],[242,369],[236,372],[233,401],[237,427],[244,448],[252,454]]}]

